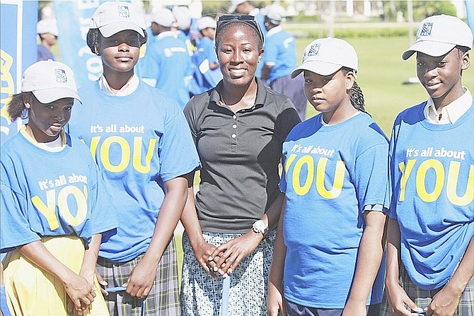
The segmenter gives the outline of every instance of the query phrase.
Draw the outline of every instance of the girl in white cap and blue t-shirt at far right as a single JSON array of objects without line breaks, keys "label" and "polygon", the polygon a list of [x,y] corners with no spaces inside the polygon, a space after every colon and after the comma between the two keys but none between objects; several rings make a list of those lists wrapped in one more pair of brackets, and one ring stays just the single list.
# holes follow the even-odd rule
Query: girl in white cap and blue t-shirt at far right
[{"label": "girl in white cap and blue t-shirt at far right", "polygon": [[462,84],[473,33],[430,16],[405,52],[428,100],[395,119],[381,315],[474,315],[474,107]]}]

